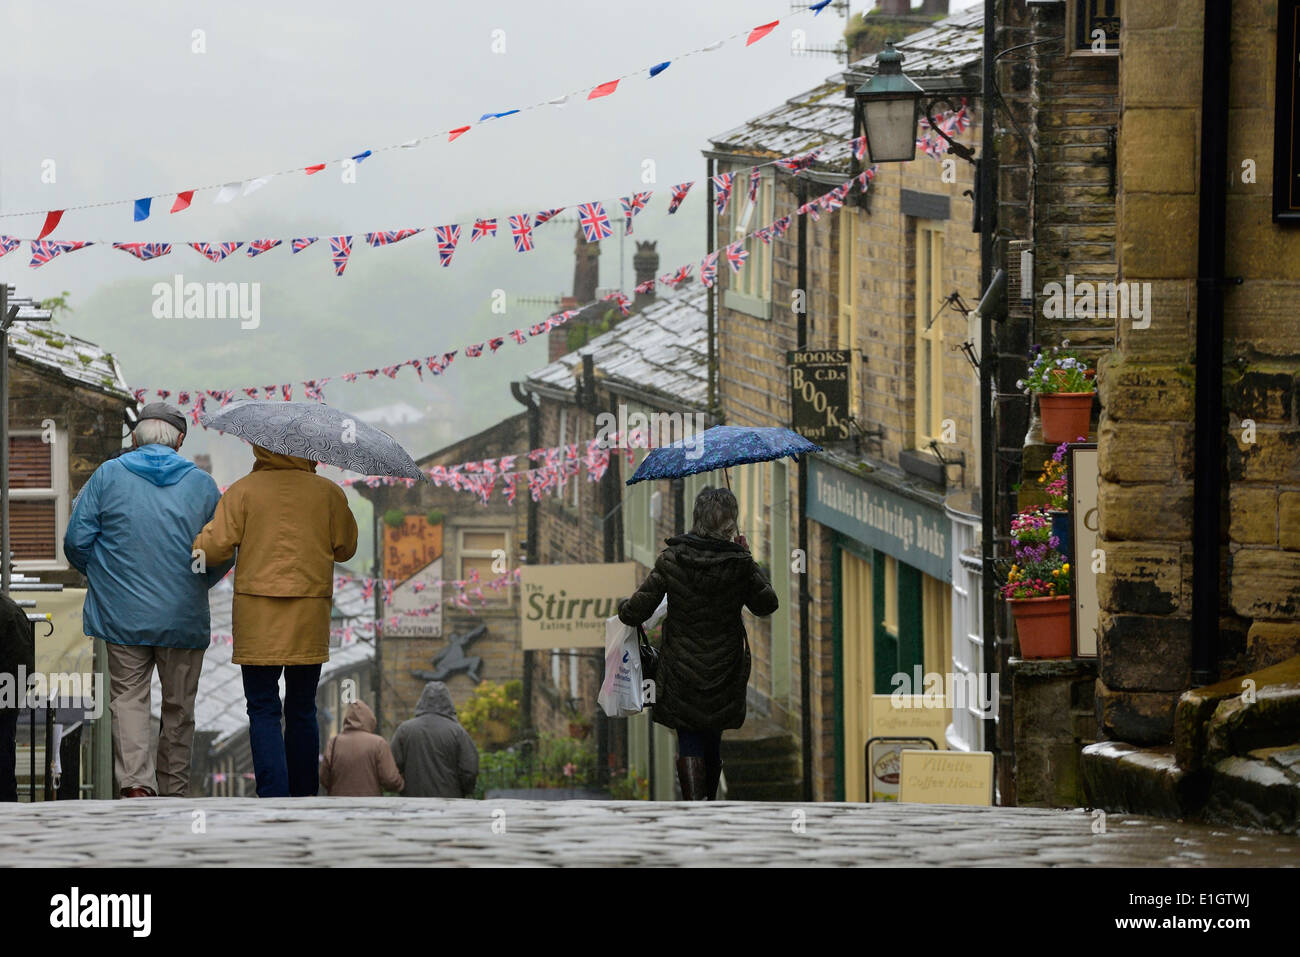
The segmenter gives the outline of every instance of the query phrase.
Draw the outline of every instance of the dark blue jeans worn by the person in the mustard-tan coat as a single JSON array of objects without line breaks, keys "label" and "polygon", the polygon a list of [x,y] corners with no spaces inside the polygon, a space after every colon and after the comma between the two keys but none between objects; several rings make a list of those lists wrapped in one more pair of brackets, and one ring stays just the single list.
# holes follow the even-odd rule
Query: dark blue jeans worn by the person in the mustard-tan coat
[{"label": "dark blue jeans worn by the person in the mustard-tan coat", "polygon": [[[257,797],[312,797],[320,789],[316,723],[320,664],[243,664],[248,740]],[[285,672],[285,733],[280,733],[280,672]]]}]

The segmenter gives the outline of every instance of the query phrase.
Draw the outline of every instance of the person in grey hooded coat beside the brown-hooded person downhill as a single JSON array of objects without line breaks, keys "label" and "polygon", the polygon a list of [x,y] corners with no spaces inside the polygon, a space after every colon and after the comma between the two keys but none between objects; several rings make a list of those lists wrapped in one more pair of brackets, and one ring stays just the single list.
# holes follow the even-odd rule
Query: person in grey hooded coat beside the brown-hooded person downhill
[{"label": "person in grey hooded coat beside the brown-hooded person downhill", "polygon": [[393,759],[406,780],[403,797],[469,797],[478,780],[478,749],[460,727],[451,693],[429,681],[415,718],[393,732]]}]

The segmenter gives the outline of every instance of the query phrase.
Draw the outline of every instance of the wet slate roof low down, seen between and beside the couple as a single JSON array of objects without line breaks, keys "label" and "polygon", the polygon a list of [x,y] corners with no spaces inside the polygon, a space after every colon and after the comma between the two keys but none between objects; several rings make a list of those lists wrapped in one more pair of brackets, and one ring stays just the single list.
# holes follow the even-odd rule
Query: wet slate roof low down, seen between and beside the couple
[{"label": "wet slate roof low down, seen between and beside the couple", "polygon": [[[347,573],[337,567],[338,573]],[[234,584],[230,576],[213,585],[208,592],[208,607],[212,611],[212,633],[230,633],[230,605],[234,597]],[[361,584],[348,581],[334,589],[334,609],[354,620],[355,627],[373,620],[374,603],[361,598]],[[339,624],[339,623],[335,623]],[[199,693],[194,700],[194,727],[199,732],[213,732],[213,748],[220,748],[235,735],[248,728],[248,713],[244,706],[243,672],[230,661],[234,646],[226,642],[213,642],[203,655],[203,675],[199,679]],[[329,675],[348,670],[374,658],[374,645],[368,641],[354,641],[351,645],[332,648],[329,661],[321,666],[321,680]],[[153,674],[153,718],[157,719],[162,706],[162,690],[157,672]]]}]

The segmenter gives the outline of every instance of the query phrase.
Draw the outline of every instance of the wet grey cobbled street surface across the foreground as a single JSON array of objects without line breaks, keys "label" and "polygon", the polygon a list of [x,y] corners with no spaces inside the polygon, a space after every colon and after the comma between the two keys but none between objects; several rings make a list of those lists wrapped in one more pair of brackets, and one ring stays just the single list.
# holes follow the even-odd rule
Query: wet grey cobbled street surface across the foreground
[{"label": "wet grey cobbled street surface across the foreground", "polygon": [[[202,811],[202,815],[199,814]],[[0,865],[1297,866],[1300,839],[1086,810],[153,798],[10,805]]]}]

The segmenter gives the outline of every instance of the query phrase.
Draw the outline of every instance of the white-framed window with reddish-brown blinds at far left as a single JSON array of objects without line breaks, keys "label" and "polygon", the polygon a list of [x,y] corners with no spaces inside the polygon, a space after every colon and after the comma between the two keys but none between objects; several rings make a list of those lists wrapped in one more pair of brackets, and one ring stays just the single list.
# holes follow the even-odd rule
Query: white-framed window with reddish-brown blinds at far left
[{"label": "white-framed window with reddish-brown blinds at far left", "polygon": [[18,571],[66,568],[68,433],[53,442],[42,432],[9,437],[9,547]]}]

